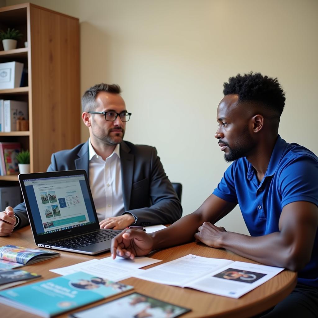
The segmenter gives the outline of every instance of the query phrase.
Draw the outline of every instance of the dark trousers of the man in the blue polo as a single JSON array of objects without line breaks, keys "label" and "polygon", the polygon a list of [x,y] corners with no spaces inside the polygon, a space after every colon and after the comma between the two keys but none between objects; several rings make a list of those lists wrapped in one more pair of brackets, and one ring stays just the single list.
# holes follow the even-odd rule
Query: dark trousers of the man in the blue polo
[{"label": "dark trousers of the man in the blue polo", "polygon": [[256,317],[318,318],[318,288],[297,284],[283,301]]}]

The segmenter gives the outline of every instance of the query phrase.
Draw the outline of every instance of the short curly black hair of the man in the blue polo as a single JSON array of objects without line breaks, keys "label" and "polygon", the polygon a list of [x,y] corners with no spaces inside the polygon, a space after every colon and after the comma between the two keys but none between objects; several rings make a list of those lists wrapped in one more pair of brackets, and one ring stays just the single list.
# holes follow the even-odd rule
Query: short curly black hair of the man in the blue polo
[{"label": "short curly black hair of the man in the blue polo", "polygon": [[237,74],[235,77],[230,77],[223,87],[224,95],[238,94],[239,102],[259,102],[266,108],[278,112],[279,116],[283,112],[286,98],[277,78],[253,72],[243,76]]}]

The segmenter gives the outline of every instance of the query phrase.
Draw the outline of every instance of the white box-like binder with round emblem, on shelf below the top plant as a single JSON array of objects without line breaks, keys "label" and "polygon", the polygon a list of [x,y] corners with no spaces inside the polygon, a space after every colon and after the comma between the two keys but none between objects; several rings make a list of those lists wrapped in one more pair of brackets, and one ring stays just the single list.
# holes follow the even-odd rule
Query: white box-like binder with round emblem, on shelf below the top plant
[{"label": "white box-like binder with round emblem, on shelf below the top plant", "polygon": [[0,63],[0,89],[20,87],[23,63]]}]

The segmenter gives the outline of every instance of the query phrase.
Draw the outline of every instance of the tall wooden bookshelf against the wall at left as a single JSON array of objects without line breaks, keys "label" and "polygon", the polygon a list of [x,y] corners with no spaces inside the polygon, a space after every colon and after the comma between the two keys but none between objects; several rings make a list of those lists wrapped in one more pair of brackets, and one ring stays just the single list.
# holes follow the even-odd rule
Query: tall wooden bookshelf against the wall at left
[{"label": "tall wooden bookshelf against the wall at left", "polygon": [[[0,89],[0,99],[28,102],[29,130],[0,132],[0,142],[20,142],[30,171],[46,171],[53,152],[80,142],[79,20],[23,3],[0,7],[0,29],[8,27],[23,38],[9,51],[0,41],[0,63],[24,63],[27,76],[23,87]],[[0,176],[7,185],[17,185],[17,175]]]}]

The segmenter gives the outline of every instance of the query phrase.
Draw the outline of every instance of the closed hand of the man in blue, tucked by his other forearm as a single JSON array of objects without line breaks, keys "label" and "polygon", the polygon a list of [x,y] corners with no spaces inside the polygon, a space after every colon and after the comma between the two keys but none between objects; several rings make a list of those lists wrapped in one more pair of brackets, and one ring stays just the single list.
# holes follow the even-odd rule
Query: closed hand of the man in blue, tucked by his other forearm
[{"label": "closed hand of the man in blue, tucked by his other forearm", "polygon": [[222,237],[225,233],[225,228],[222,226],[216,226],[210,222],[204,222],[199,228],[198,232],[194,234],[197,242],[202,242],[205,245],[220,248]]}]

